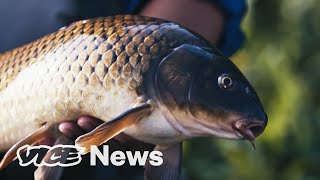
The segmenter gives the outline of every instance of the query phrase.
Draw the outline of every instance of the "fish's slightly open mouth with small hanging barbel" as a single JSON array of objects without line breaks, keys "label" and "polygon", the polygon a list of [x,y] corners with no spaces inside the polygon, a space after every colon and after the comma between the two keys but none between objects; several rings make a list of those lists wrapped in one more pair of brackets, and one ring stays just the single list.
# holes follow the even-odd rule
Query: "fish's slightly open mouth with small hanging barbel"
[{"label": "fish's slightly open mouth with small hanging barbel", "polygon": [[255,149],[254,140],[262,134],[266,127],[266,123],[253,120],[238,120],[232,124],[232,128],[240,134],[244,139],[250,141]]}]

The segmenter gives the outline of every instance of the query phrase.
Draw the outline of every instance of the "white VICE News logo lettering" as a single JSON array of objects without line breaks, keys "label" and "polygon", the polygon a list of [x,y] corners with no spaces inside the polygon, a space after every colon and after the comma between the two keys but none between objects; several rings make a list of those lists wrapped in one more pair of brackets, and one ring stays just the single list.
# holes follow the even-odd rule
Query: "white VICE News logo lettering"
[{"label": "white VICE News logo lettering", "polygon": [[[22,153],[26,151],[26,153]],[[49,154],[49,158],[42,159],[40,156],[42,151]],[[113,164],[114,166],[122,166],[126,162],[130,166],[145,166],[147,161],[152,166],[160,166],[163,163],[163,154],[160,151],[114,151],[110,154],[109,146],[103,145],[103,152],[97,146],[91,146],[90,165],[96,166],[99,160],[104,166]],[[55,146],[29,146],[24,145],[17,150],[17,158],[19,165],[22,167],[31,164],[40,166],[62,166],[70,167],[78,165],[81,160],[81,147],[74,145],[55,145]]]}]

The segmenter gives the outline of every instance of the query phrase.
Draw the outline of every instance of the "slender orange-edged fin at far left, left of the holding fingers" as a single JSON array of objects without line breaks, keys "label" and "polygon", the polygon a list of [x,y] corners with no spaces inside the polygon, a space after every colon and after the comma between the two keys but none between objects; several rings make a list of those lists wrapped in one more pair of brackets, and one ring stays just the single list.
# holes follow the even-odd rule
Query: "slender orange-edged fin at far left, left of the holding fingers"
[{"label": "slender orange-edged fin at far left, left of the holding fingers", "polygon": [[[37,144],[43,138],[50,136],[51,131],[52,129],[48,125],[44,125],[40,129],[38,129],[36,132],[28,135],[26,138],[14,144],[2,158],[0,162],[0,170],[7,167],[12,161],[14,161],[17,158],[17,150],[20,147],[26,144],[29,144],[30,146]],[[23,151],[19,151],[19,152],[23,153]]]}]

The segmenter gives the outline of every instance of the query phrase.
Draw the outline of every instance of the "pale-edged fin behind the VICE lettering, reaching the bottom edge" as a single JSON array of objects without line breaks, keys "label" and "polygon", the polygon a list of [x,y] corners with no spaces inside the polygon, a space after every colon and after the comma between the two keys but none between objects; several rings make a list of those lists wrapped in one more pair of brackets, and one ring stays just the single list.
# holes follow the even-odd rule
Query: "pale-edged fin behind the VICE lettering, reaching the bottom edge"
[{"label": "pale-edged fin behind the VICE lettering, reaching the bottom edge", "polygon": [[[73,141],[63,134],[59,135],[58,138],[56,139],[54,145],[57,144],[73,144]],[[67,151],[70,149],[66,149],[64,151]],[[55,152],[49,151],[42,159],[42,161],[48,162],[52,155]],[[66,159],[65,159],[66,160]],[[65,162],[61,162],[65,163]],[[34,172],[34,179],[35,180],[59,180],[63,172],[63,167],[62,166],[40,166],[37,168],[37,170]]]}]

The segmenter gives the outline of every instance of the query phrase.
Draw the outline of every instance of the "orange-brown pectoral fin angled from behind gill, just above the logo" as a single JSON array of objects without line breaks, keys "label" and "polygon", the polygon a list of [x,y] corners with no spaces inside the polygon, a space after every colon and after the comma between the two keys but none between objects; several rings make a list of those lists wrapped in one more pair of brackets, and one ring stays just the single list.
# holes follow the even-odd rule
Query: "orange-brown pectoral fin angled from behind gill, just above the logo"
[{"label": "orange-brown pectoral fin angled from behind gill, just above the logo", "polygon": [[99,146],[114,136],[124,131],[127,127],[136,124],[144,115],[152,109],[150,102],[134,107],[111,121],[105,122],[91,132],[79,136],[75,144],[80,146],[81,154],[90,152],[90,146]]}]

